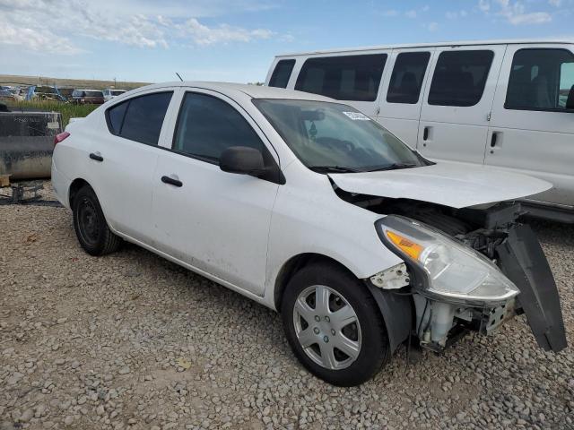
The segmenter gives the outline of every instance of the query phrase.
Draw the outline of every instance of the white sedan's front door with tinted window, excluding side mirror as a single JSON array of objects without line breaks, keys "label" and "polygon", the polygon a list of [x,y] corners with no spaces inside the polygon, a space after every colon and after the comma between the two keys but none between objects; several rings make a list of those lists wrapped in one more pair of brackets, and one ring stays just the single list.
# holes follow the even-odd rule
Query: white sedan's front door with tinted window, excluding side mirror
[{"label": "white sedan's front door with tinted window, excluding side mirror", "polygon": [[153,176],[152,217],[161,251],[262,296],[279,185],[219,168],[230,146],[266,151],[276,160],[254,125],[230,99],[207,90],[185,93],[172,147],[160,155]]}]

